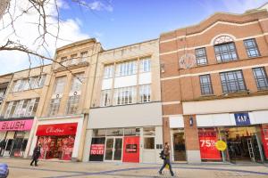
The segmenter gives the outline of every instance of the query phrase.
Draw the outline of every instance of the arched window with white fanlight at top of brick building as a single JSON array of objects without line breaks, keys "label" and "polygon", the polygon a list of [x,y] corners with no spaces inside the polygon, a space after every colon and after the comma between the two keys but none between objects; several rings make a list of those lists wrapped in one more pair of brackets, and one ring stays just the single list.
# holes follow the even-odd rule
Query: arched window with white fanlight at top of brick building
[{"label": "arched window with white fanlight at top of brick building", "polygon": [[219,36],[215,38],[214,50],[218,62],[238,60],[236,46],[230,36]]}]

